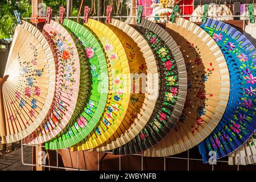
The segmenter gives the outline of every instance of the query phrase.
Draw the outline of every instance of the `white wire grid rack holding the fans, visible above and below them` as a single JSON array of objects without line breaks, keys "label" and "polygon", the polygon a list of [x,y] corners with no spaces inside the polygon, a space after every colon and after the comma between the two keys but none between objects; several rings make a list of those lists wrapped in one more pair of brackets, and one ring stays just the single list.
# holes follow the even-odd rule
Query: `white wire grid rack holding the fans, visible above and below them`
[{"label": "white wire grid rack holding the fans, visible above and below them", "polygon": [[[184,6],[193,6],[193,5],[181,5],[183,8]],[[137,3],[136,3],[136,6],[137,7]],[[145,6],[145,10],[146,10],[146,6]],[[184,11],[183,11],[184,12]],[[137,14],[137,9],[135,10],[135,14]],[[179,17],[183,17],[183,18],[190,18],[192,15],[181,15]],[[149,17],[152,17],[152,16],[146,16],[146,18],[149,18]],[[153,16],[153,17],[166,17],[166,16]],[[193,16],[195,17],[195,16]],[[220,16],[219,16],[220,17]],[[229,16],[230,17],[230,16]],[[233,15],[231,17],[241,17],[240,15]],[[246,26],[246,18],[248,18],[249,16],[246,16],[246,15],[243,15],[243,30],[245,30],[245,26]],[[66,17],[66,18],[69,18],[69,19],[76,19],[77,16],[69,16],[69,17]],[[79,18],[84,18],[83,16],[80,16]],[[93,18],[93,19],[100,19],[100,18],[106,18],[106,16],[91,16],[90,18]],[[127,19],[127,18],[136,18],[136,16],[130,16],[129,15],[129,11],[127,10],[127,16],[112,16],[112,18],[117,18],[121,21]],[[29,19],[45,19],[45,18],[23,18],[23,19],[26,19],[26,20],[29,20]],[[57,19],[57,17],[54,17],[53,19]],[[37,26],[37,24],[36,24]],[[31,144],[23,144],[23,142],[21,143],[21,148],[22,148],[22,164],[26,165],[26,166],[34,166],[34,167],[45,167],[45,168],[55,168],[55,169],[66,169],[66,170],[74,170],[74,171],[88,171],[86,169],[80,169],[79,168],[79,152],[77,152],[77,167],[61,167],[59,166],[59,161],[58,161],[58,152],[56,150],[56,163],[57,165],[56,166],[48,166],[48,165],[44,165],[42,164],[42,162],[39,162],[38,161],[38,164],[32,164],[32,163],[25,163],[24,162],[24,155],[23,155],[23,147],[24,146],[30,146],[30,147],[43,147],[44,146],[38,146],[38,145],[31,145]],[[69,150],[69,148],[65,148],[65,150]],[[101,152],[101,153],[108,153],[108,154],[112,154],[111,152]],[[144,168],[143,168],[143,155],[142,154],[133,154],[133,155],[138,155],[138,156],[141,156],[141,170],[143,171]],[[39,158],[38,158],[39,159]],[[36,160],[38,160],[36,159]],[[100,163],[99,163],[99,159],[100,159],[100,153],[98,153],[98,164],[97,164],[97,169],[100,170]],[[187,151],[187,157],[185,158],[181,158],[181,157],[175,157],[175,156],[167,156],[167,157],[164,157],[163,160],[164,160],[164,171],[166,171],[166,166],[167,166],[167,159],[178,159],[178,160],[187,160],[187,170],[190,171],[191,168],[189,167],[189,162],[191,161],[201,161],[203,162],[202,159],[195,159],[195,158],[191,158],[189,156],[189,150]],[[227,160],[217,160],[216,161],[217,163],[226,163],[228,165],[228,161]],[[237,166],[237,171],[240,170],[240,166],[238,165]],[[119,155],[119,171],[121,171],[121,155]],[[212,171],[214,171],[214,164],[212,164]]]}]

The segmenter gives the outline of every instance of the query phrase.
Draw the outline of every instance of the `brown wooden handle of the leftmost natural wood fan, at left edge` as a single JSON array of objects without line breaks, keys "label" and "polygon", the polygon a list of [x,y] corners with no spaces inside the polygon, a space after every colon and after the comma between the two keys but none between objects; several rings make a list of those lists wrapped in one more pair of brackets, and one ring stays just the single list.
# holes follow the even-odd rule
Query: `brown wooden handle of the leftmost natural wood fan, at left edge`
[{"label": "brown wooden handle of the leftmost natural wood fan, at left edge", "polygon": [[3,78],[0,78],[0,134],[2,138],[2,143],[6,143],[6,123],[5,123],[5,111],[3,107],[3,84],[8,79],[9,75],[4,76]]}]

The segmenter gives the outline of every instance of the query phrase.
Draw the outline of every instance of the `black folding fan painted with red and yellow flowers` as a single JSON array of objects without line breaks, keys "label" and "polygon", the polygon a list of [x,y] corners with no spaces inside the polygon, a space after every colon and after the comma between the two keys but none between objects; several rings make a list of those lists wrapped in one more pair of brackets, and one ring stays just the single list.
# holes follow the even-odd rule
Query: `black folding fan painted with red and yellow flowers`
[{"label": "black folding fan painted with red and yellow flowers", "polygon": [[142,131],[129,143],[116,148],[114,154],[134,154],[154,146],[176,125],[187,92],[187,73],[179,47],[162,27],[142,19],[136,25],[147,40],[160,69],[158,101],[151,118]]}]

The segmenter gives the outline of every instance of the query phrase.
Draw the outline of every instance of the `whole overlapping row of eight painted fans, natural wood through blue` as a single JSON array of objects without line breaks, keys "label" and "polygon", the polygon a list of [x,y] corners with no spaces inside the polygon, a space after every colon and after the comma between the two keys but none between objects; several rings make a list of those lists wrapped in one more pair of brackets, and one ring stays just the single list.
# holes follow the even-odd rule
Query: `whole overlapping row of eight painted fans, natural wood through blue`
[{"label": "whole overlapping row of eight painted fans, natural wood through blue", "polygon": [[220,159],[256,129],[255,63],[253,44],[213,19],[23,22],[0,80],[2,143],[144,156],[198,145],[204,163]]}]

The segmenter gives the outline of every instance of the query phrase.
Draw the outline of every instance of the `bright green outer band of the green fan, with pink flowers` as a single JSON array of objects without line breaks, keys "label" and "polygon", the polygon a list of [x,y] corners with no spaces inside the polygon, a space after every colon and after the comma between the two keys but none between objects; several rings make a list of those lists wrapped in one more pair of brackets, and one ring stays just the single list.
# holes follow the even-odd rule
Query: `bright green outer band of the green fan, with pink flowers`
[{"label": "bright green outer band of the green fan, with pink flowers", "polygon": [[[108,67],[105,53],[100,41],[90,30],[79,23],[65,19],[64,26],[67,26],[84,45],[81,53],[85,53],[89,59],[92,74],[92,90],[87,105],[77,116],[76,121],[70,123],[68,128],[55,140],[47,143],[49,148],[64,148],[72,146],[86,137],[100,121],[104,111],[109,85]],[[103,87],[101,84],[105,84]],[[85,102],[85,101],[84,101]]]}]

